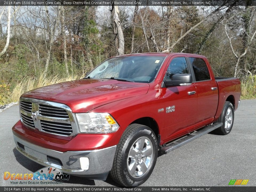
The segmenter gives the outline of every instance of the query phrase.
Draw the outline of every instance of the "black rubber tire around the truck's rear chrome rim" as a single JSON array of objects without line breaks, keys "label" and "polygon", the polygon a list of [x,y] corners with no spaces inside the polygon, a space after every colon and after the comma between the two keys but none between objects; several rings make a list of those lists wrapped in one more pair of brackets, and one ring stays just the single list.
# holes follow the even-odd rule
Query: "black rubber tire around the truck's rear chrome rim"
[{"label": "black rubber tire around the truck's rear chrome rim", "polygon": [[[227,115],[227,110],[230,109],[230,113],[232,113],[232,119],[230,126],[227,126],[226,123],[226,115]],[[227,135],[230,133],[233,123],[234,123],[234,107],[231,102],[226,101],[223,106],[223,110],[221,112],[221,116],[218,118],[216,121],[217,123],[221,122],[223,125],[217,129],[214,130],[214,133],[219,134],[219,135]]]}]

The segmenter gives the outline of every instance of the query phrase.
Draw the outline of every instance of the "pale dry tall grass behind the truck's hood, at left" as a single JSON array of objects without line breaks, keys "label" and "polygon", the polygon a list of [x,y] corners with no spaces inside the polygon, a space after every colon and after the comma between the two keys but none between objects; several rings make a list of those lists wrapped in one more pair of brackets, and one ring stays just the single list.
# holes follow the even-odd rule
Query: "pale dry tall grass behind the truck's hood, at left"
[{"label": "pale dry tall grass behind the truck's hood, at left", "polygon": [[55,83],[81,79],[83,77],[84,76],[78,77],[77,75],[72,77],[71,75],[69,75],[66,78],[60,78],[59,75],[55,75],[55,76],[50,76],[45,78],[44,74],[41,73],[38,77],[29,77],[27,79],[23,79],[20,83],[18,83],[14,87],[13,93],[10,95],[10,98],[9,98],[9,103],[19,101],[19,97],[23,93],[26,93],[27,91],[30,91],[32,89],[36,89],[38,87],[43,87],[47,85],[52,85]]}]

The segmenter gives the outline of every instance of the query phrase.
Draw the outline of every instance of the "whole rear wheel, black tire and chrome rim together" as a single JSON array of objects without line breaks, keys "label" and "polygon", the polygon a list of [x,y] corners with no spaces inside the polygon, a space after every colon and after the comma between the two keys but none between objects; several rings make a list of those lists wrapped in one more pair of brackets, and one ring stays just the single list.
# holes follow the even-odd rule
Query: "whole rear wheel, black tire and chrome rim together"
[{"label": "whole rear wheel, black tire and chrome rim together", "polygon": [[231,102],[225,102],[221,116],[218,118],[217,122],[221,122],[223,125],[215,129],[215,133],[220,135],[227,135],[230,133],[234,123],[234,107]]}]

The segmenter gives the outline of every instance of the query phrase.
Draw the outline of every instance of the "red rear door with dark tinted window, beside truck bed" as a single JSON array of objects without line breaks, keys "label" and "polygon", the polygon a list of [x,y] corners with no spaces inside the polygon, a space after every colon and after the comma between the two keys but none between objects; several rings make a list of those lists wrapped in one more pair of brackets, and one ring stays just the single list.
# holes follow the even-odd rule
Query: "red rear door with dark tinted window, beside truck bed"
[{"label": "red rear door with dark tinted window, beside truck bed", "polygon": [[192,67],[193,84],[197,89],[197,122],[212,121],[218,107],[217,82],[213,73],[209,73],[209,63],[205,57],[189,56],[188,59]]}]

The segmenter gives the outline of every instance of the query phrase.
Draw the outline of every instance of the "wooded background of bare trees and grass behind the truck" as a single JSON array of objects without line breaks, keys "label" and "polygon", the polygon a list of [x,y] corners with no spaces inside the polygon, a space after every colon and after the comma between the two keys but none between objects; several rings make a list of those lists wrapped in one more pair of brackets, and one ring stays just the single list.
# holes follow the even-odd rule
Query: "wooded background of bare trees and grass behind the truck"
[{"label": "wooded background of bare trees and grass behind the truck", "polygon": [[143,52],[205,55],[256,98],[255,21],[255,6],[1,6],[0,104]]}]

